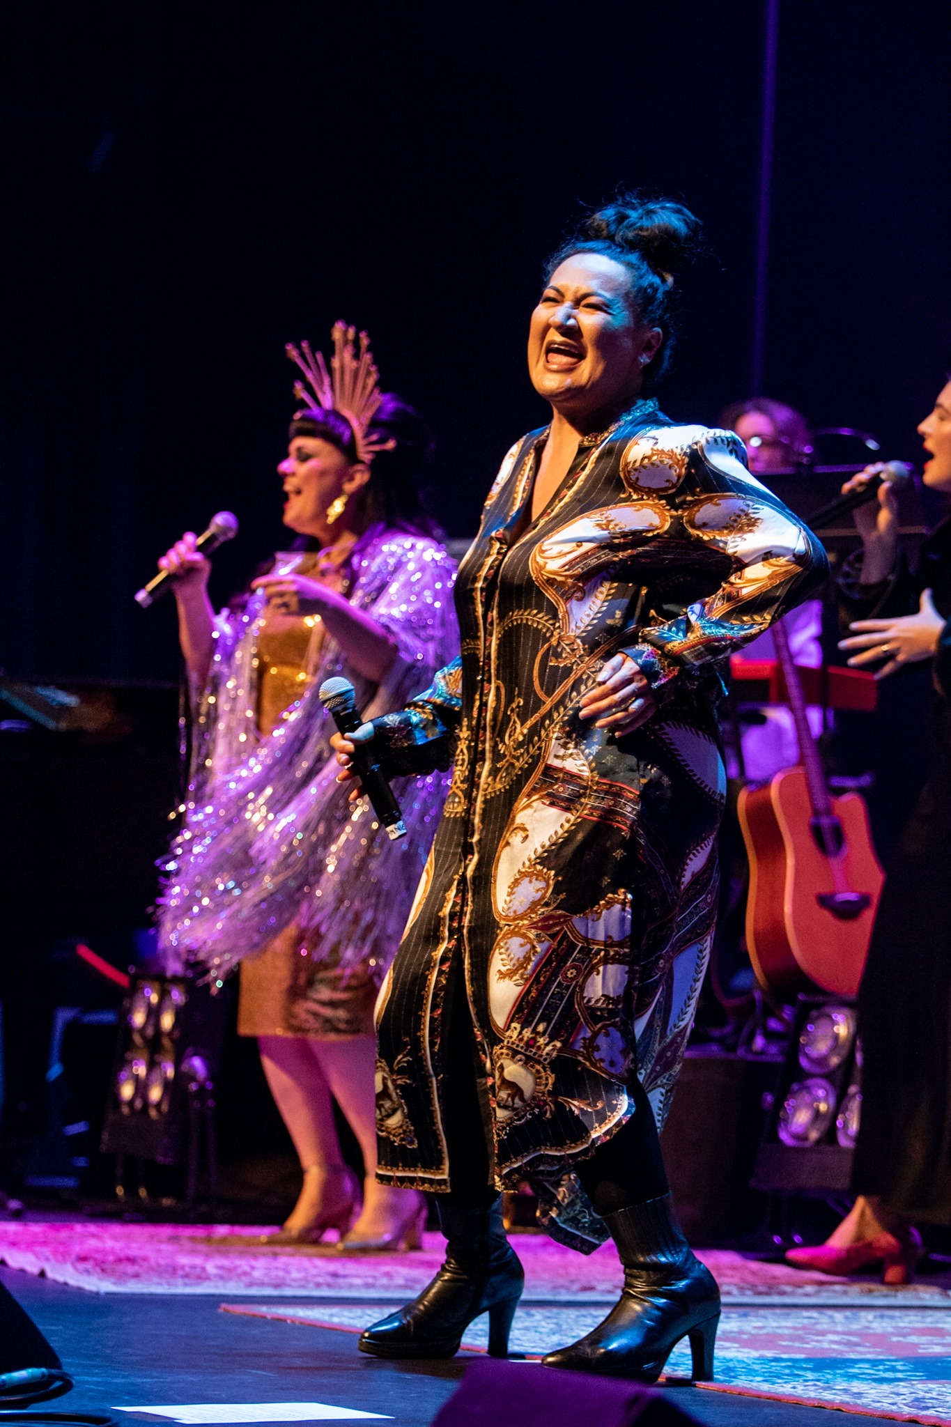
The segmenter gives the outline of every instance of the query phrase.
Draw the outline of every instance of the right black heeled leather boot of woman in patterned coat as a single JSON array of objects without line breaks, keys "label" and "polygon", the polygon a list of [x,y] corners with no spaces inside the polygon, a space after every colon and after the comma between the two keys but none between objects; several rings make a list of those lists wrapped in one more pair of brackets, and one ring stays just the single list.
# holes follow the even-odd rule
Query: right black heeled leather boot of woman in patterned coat
[{"label": "right black heeled leather boot of woman in patterned coat", "polygon": [[587,1337],[542,1359],[545,1366],[656,1383],[689,1337],[693,1378],[711,1378],[720,1290],[683,1237],[670,1194],[605,1214],[605,1223],[624,1266],[620,1300]]}]

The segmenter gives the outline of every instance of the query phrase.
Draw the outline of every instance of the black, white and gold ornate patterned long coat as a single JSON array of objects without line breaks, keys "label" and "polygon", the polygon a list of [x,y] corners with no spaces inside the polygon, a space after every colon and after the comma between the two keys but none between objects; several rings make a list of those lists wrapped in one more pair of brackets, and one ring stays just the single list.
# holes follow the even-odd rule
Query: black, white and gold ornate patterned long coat
[{"label": "black, white and gold ornate patterned long coat", "polygon": [[[632,1114],[634,1075],[663,1123],[707,962],[719,668],[827,567],[736,435],[653,401],[582,440],[526,524],[545,437],[506,455],[461,565],[461,659],[375,721],[392,772],[455,756],[378,1002],[379,1177],[449,1187],[442,1027],[462,969],[496,1183],[529,1179],[549,1232],[589,1251],[606,1229],[572,1166]],[[620,738],[577,716],[619,649],[659,702]]]}]

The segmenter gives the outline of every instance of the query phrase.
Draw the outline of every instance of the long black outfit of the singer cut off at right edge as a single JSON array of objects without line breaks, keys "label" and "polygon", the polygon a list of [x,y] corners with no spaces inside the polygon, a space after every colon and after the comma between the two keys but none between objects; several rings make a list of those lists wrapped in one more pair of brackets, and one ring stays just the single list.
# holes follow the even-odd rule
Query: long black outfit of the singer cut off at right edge
[{"label": "long black outfit of the singer cut off at right edge", "polygon": [[[851,567],[851,568],[850,568]],[[843,571],[847,619],[913,614],[922,589],[951,615],[951,519],[880,585]],[[905,823],[858,992],[863,1110],[853,1190],[908,1219],[951,1224],[951,644],[934,661],[928,781]],[[895,675],[904,678],[905,675]],[[893,731],[895,749],[903,731]]]}]

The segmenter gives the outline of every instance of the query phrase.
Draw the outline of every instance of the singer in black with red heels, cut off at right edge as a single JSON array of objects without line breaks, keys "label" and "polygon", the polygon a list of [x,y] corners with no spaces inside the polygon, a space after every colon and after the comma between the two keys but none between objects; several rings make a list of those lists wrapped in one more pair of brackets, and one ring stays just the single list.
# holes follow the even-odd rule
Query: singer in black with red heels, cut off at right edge
[{"label": "singer in black with red heels, cut off at right edge", "polygon": [[[951,495],[951,380],[918,434],[924,484]],[[854,515],[863,548],[840,577],[851,621],[840,648],[877,678],[932,661],[932,742],[928,781],[887,869],[858,995],[858,1197],[826,1244],[793,1249],[787,1259],[834,1274],[884,1261],[885,1281],[905,1283],[921,1250],[913,1223],[951,1226],[951,517],[930,532],[913,567],[890,485]]]}]

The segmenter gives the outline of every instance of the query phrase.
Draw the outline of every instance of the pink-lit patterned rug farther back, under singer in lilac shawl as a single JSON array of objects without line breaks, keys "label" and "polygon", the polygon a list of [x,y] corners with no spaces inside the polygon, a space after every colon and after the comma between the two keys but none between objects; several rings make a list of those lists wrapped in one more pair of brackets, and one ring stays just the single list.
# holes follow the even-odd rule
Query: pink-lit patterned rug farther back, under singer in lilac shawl
[{"label": "pink-lit patterned rug farther back, under singer in lilac shawl", "polygon": [[[402,1303],[429,1281],[443,1240],[426,1234],[408,1254],[344,1257],[331,1246],[268,1249],[264,1229],[191,1224],[0,1223],[0,1261],[56,1283],[96,1293],[214,1293],[228,1297],[307,1299],[329,1303]],[[612,1244],[590,1257],[545,1234],[519,1234],[526,1304],[610,1304],[620,1289]],[[948,1309],[951,1291],[920,1283],[885,1289],[874,1280],[828,1279],[786,1264],[759,1263],[729,1250],[701,1250],[724,1297],[736,1306]]]}]

